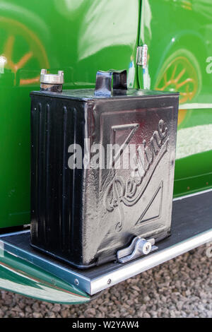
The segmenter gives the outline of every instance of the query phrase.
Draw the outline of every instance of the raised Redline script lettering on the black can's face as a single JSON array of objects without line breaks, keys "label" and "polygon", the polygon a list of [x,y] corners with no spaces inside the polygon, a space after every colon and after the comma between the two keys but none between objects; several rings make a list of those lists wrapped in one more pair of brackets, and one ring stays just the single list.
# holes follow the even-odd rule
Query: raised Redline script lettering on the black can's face
[{"label": "raised Redline script lettering on the black can's face", "polygon": [[[138,129],[139,126],[136,128]],[[153,132],[149,144],[147,144],[145,139],[143,140],[144,151],[142,152],[141,146],[136,150],[134,155],[134,173],[132,172],[132,174],[126,179],[124,179],[122,175],[114,175],[114,179],[112,179],[112,182],[107,186],[105,192],[105,208],[109,212],[114,211],[114,208],[119,209],[120,220],[115,226],[117,232],[122,230],[124,223],[122,203],[125,206],[131,207],[139,202],[141,196],[143,196],[148,187],[148,183],[151,181],[155,168],[163,158],[163,155],[167,152],[167,144],[167,127],[165,126],[163,119],[160,119],[158,122],[158,130]],[[126,146],[126,148],[128,147]],[[158,189],[153,195],[153,200],[160,190],[163,190],[163,181],[160,182],[160,186],[158,186]],[[151,203],[153,203],[153,201]],[[142,217],[143,215],[136,220],[135,225],[141,223]]]}]

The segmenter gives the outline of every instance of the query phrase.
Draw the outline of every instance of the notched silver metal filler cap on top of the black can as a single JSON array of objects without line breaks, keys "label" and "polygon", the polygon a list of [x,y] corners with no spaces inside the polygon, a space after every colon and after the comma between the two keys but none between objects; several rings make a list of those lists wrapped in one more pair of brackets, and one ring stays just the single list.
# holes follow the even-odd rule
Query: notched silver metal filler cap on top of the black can
[{"label": "notched silver metal filler cap on top of the black can", "polygon": [[40,90],[61,92],[64,84],[64,71],[57,73],[47,73],[47,69],[40,71]]}]

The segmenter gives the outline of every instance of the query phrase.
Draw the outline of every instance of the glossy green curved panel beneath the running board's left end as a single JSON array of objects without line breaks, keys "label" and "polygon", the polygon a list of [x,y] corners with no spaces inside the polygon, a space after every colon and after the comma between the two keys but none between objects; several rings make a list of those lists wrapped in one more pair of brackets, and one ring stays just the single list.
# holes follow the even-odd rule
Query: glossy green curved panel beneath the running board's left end
[{"label": "glossy green curved panel beneath the running board's left end", "polygon": [[37,300],[64,304],[88,302],[90,297],[40,268],[0,251],[0,288]]}]

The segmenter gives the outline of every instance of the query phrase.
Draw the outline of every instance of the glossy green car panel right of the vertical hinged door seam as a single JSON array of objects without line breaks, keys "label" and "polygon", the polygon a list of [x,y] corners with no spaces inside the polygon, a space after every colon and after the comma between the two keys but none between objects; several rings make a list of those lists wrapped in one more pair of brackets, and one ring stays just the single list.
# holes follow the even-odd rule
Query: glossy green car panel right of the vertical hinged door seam
[{"label": "glossy green car panel right of the vertical hinged door seam", "polygon": [[175,196],[212,187],[211,23],[210,0],[142,1],[139,44],[148,45],[148,76],[139,68],[140,86],[180,93]]}]

